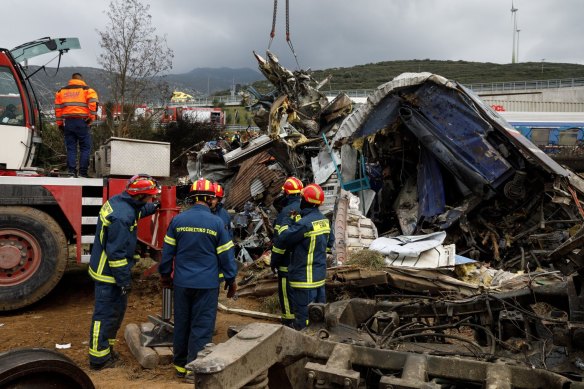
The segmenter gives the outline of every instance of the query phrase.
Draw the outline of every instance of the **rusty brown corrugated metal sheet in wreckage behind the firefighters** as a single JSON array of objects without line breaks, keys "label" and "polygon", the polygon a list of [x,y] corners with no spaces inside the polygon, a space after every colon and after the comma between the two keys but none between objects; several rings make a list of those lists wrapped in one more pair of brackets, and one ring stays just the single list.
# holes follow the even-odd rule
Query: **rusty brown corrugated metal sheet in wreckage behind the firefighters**
[{"label": "rusty brown corrugated metal sheet in wreckage behind the firefighters", "polygon": [[225,199],[225,207],[241,211],[246,201],[252,199],[258,188],[264,188],[264,196],[275,197],[281,190],[286,175],[279,169],[269,169],[274,159],[266,151],[244,161],[233,180]]}]

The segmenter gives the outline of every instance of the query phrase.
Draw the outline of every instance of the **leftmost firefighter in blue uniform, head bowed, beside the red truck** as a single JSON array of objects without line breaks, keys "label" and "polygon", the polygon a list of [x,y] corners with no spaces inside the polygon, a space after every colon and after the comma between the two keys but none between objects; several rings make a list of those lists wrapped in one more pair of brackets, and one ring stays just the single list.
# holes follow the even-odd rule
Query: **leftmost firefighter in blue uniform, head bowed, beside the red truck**
[{"label": "leftmost firefighter in blue uniform, head bowed, beside the red truck", "polygon": [[89,366],[92,370],[114,367],[119,356],[113,350],[132,288],[138,219],[156,212],[151,203],[160,194],[156,180],[146,174],[132,177],[122,192],[99,211],[89,275],[95,281],[95,307],[89,334]]}]

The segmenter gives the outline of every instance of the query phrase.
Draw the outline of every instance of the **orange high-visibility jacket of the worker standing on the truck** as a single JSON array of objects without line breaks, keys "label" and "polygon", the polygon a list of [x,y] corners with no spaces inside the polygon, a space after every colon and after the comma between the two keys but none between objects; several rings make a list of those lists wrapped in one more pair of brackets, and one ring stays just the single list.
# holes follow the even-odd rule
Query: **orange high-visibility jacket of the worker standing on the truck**
[{"label": "orange high-visibility jacket of the worker standing on the truck", "polygon": [[83,80],[69,80],[69,84],[55,94],[57,126],[63,125],[63,119],[67,118],[95,120],[97,103],[97,93]]}]

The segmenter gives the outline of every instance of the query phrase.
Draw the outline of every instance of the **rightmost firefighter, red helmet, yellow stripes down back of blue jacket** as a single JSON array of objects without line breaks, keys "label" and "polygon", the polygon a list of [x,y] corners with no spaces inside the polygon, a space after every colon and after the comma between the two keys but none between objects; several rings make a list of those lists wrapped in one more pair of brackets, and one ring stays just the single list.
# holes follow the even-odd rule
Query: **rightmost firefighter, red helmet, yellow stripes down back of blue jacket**
[{"label": "rightmost firefighter, red helmet, yellow stripes down back of blue jacket", "polygon": [[294,328],[308,325],[308,304],[325,303],[326,255],[333,247],[334,234],[329,220],[318,210],[324,202],[324,192],[317,184],[307,185],[300,192],[300,220],[292,222],[281,231],[274,249],[278,250],[272,261],[291,250],[288,265],[288,283]]}]

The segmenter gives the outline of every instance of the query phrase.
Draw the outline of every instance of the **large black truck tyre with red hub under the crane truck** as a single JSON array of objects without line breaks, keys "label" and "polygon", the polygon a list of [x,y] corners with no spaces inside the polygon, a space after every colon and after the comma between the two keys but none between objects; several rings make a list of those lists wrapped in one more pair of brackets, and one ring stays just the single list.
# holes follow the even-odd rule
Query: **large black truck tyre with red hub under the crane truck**
[{"label": "large black truck tyre with red hub under the crane truck", "polygon": [[29,207],[0,207],[0,311],[47,295],[67,266],[67,239],[57,222]]}]

